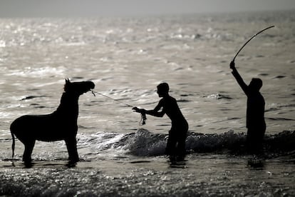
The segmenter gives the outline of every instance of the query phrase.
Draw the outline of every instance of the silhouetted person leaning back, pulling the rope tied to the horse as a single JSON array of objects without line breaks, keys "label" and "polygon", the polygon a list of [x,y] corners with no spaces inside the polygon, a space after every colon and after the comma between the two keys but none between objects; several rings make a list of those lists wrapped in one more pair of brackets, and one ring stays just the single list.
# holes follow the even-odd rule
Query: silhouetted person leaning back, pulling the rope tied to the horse
[{"label": "silhouetted person leaning back, pulling the rope tied to the horse", "polygon": [[157,86],[157,94],[162,99],[154,109],[145,110],[144,108],[136,107],[133,109],[138,113],[146,113],[157,117],[167,114],[171,119],[172,127],[169,131],[165,154],[169,155],[170,159],[177,158],[178,160],[183,160],[186,152],[185,139],[187,138],[188,124],[177,105],[177,101],[168,92],[169,86],[167,83],[159,84]]}]

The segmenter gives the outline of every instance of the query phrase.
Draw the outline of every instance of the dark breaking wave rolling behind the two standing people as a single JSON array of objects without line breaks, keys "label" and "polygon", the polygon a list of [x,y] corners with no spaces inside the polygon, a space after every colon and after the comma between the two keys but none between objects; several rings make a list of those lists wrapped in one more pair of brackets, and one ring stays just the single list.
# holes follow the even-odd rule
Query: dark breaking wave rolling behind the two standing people
[{"label": "dark breaking wave rolling behind the two standing people", "polygon": [[[115,149],[133,156],[162,156],[165,154],[167,134],[152,133],[144,128],[135,133],[96,133],[88,142],[94,143],[97,151]],[[231,153],[245,154],[246,133],[195,133],[187,135],[187,153]],[[295,131],[282,131],[264,137],[266,157],[274,157],[295,151]],[[91,145],[90,145],[91,146]],[[93,145],[94,146],[94,145]]]}]

